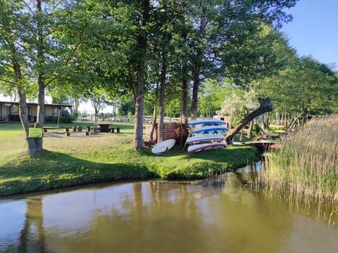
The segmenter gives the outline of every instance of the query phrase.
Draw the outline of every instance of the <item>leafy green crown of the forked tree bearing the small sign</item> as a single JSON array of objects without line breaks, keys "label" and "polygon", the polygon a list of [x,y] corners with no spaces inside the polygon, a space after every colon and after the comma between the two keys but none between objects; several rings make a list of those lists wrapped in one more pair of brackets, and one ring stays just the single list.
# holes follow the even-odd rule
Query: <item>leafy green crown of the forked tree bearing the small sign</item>
[{"label": "leafy green crown of the forked tree bearing the small sign", "polygon": [[[38,5],[44,11],[39,10]],[[69,73],[74,41],[65,41],[63,32],[70,23],[70,2],[5,0],[0,6],[0,79],[12,91],[37,96],[37,79],[43,73],[44,86],[56,84]],[[30,31],[30,32],[27,32]]]}]

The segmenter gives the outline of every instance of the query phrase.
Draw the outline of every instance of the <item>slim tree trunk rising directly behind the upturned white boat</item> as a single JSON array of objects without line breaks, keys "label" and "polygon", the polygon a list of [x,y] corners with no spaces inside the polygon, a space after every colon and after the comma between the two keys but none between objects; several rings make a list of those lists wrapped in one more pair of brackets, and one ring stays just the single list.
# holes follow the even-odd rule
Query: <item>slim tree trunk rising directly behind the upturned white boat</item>
[{"label": "slim tree trunk rising directly behind the upturned white boat", "polygon": [[160,92],[160,119],[158,120],[158,136],[157,143],[163,141],[163,129],[164,129],[164,102],[165,102],[165,77],[167,75],[167,65],[165,63],[166,58],[162,55],[162,70],[161,70],[161,92]]}]

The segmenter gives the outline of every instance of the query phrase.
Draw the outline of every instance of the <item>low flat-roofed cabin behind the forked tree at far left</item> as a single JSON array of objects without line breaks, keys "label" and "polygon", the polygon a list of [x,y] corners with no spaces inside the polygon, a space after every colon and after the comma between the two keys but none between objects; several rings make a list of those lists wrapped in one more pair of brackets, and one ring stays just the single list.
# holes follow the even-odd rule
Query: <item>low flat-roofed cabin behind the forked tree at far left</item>
[{"label": "low flat-roofed cabin behind the forked tree at far left", "polygon": [[[27,105],[28,117],[30,118],[30,121],[36,122],[37,103],[27,103]],[[45,116],[47,118],[58,116],[58,112],[65,108],[68,108],[71,112],[73,109],[73,105],[45,104]],[[0,122],[20,122],[18,102],[0,101]]]}]

